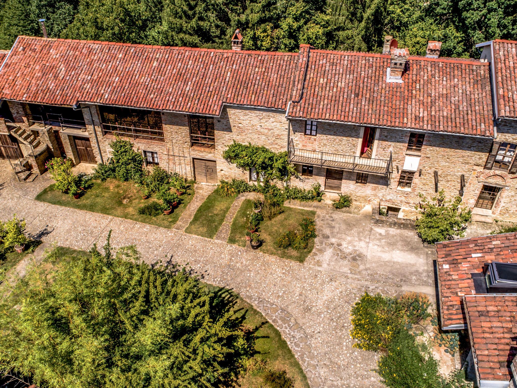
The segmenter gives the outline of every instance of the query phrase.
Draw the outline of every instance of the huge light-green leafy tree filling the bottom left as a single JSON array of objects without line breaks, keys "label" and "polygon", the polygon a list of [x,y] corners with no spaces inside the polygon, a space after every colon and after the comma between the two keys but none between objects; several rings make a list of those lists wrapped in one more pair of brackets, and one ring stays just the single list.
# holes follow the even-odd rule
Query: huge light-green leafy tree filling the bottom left
[{"label": "huge light-green leafy tree filling the bottom left", "polygon": [[54,250],[2,300],[2,368],[51,388],[230,383],[253,345],[231,304],[185,268],[114,255],[109,237],[104,252]]}]

